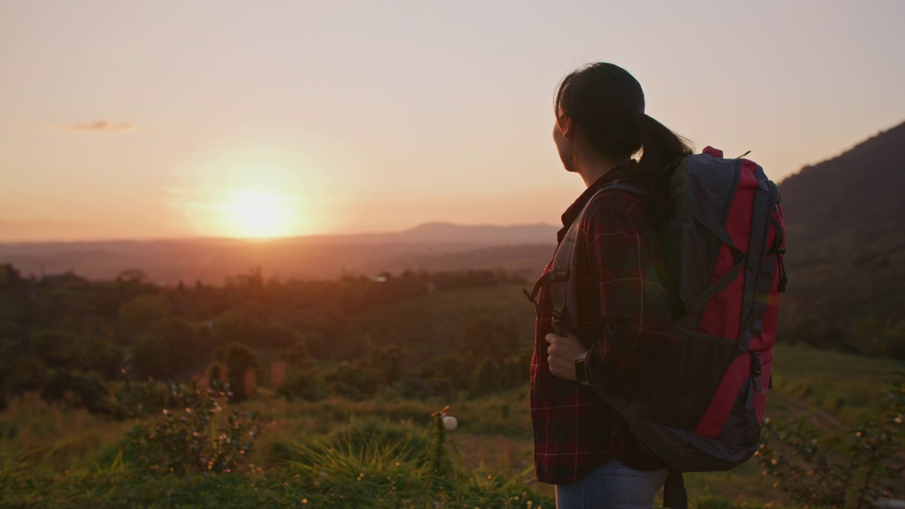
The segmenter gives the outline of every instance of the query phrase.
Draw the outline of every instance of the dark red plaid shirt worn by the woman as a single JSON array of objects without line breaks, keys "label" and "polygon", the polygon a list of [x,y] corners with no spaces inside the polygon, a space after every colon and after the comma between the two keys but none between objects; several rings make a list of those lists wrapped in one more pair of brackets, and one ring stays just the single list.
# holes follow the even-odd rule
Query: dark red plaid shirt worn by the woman
[{"label": "dark red plaid shirt worn by the woman", "polygon": [[[607,173],[563,214],[567,228],[595,192],[616,178]],[[672,341],[660,244],[642,203],[624,191],[605,191],[588,206],[580,227],[576,274],[576,335],[588,347],[591,379],[608,379],[627,395],[642,379],[657,345]],[[552,265],[548,264],[547,271]],[[545,271],[546,272],[546,271]],[[550,374],[547,341],[552,303],[538,296],[531,360],[531,423],[538,481],[574,481],[615,456],[638,470],[665,467],[635,444],[619,414],[581,384]]]}]

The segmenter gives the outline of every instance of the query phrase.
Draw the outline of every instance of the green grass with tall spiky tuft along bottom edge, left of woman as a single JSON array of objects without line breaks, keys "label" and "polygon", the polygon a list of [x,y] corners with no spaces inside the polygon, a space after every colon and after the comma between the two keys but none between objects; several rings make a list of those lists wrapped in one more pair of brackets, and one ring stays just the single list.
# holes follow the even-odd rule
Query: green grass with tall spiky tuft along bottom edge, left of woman
[{"label": "green grass with tall spiky tuft along bottom edge, left of woman", "polygon": [[[0,471],[0,507],[552,508],[524,475],[456,469],[439,416],[430,431],[365,422],[299,443],[283,466],[245,475],[150,475],[127,467]],[[442,466],[442,467],[438,467]]]}]

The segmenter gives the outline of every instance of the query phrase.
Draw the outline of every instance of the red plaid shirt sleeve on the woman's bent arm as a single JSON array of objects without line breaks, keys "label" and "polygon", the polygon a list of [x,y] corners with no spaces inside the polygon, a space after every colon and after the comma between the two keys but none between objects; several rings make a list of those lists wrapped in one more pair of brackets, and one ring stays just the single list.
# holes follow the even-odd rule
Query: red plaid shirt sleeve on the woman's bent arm
[{"label": "red plaid shirt sleeve on the woman's bent arm", "polygon": [[586,362],[592,379],[627,392],[641,381],[657,347],[672,342],[668,291],[654,263],[662,259],[660,246],[637,199],[620,191],[597,199],[583,234],[604,328]]}]

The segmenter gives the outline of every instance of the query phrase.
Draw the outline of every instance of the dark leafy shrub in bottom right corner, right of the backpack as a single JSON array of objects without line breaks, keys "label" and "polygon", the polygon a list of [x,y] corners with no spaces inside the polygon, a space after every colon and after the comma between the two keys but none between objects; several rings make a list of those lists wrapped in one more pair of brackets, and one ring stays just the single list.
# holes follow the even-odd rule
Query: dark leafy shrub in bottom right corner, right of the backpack
[{"label": "dark leafy shrub in bottom right corner, right of the backpack", "polygon": [[871,507],[880,498],[902,495],[905,473],[905,383],[895,384],[872,418],[855,425],[848,447],[824,447],[814,427],[792,421],[767,422],[758,456],[776,486],[800,504]]}]

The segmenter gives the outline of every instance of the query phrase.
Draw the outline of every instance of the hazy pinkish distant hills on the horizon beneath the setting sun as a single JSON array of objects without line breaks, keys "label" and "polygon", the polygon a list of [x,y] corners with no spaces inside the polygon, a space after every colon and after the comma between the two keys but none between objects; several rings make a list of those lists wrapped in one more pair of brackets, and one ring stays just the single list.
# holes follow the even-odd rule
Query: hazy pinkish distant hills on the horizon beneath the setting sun
[{"label": "hazy pinkish distant hills on the horizon beneath the setting sun", "polygon": [[556,226],[430,223],[402,232],[312,235],[272,241],[195,238],[157,241],[0,244],[0,264],[40,276],[72,271],[111,280],[141,269],[153,281],[221,284],[261,267],[266,277],[335,279],[405,270],[502,269],[533,277],[553,253]]}]

